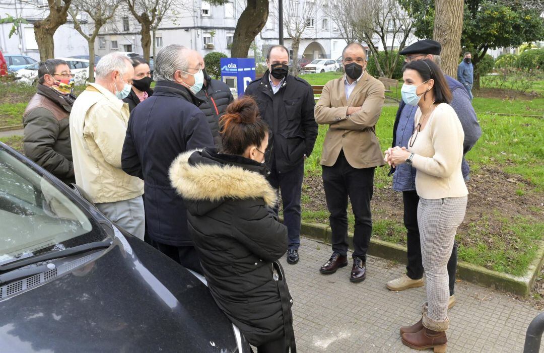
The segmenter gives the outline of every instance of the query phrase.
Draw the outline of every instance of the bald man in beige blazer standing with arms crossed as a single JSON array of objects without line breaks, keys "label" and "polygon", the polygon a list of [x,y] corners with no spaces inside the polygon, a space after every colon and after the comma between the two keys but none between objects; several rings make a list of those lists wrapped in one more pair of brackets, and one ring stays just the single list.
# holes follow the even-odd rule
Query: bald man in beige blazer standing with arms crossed
[{"label": "bald man in beige blazer standing with arms crossed", "polygon": [[323,185],[330,212],[332,255],[320,269],[333,274],[348,265],[348,196],[355,215],[351,282],[366,277],[366,255],[372,234],[370,200],[374,169],[383,165],[376,122],[384,105],[384,85],[370,76],[362,45],[349,44],[342,60],[345,75],[327,82],[314,112],[318,124],[329,125],[323,143]]}]

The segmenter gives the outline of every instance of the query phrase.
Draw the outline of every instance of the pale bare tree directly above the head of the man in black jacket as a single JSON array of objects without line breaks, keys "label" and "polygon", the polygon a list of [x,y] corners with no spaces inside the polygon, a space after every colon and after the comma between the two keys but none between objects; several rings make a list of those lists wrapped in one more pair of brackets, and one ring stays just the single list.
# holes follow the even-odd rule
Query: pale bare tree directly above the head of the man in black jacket
[{"label": "pale bare tree directly above the head of the man in black jacket", "polygon": [[[287,34],[291,38],[291,49],[293,49],[293,65],[291,65],[291,73],[298,73],[299,47],[302,34],[308,27],[317,26],[317,10],[319,5],[318,0],[287,0],[287,4],[283,4],[284,27]],[[312,22],[313,21],[313,22]]]}]

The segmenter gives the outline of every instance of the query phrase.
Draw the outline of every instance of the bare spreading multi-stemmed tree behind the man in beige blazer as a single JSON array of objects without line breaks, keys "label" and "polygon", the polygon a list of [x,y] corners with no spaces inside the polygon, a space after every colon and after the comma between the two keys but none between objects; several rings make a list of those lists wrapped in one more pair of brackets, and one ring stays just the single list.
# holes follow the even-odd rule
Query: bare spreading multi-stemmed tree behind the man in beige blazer
[{"label": "bare spreading multi-stemmed tree behind the man in beige blazer", "polygon": [[[352,25],[357,38],[367,43],[380,76],[391,78],[399,60],[399,51],[405,47],[410,36],[412,18],[406,15],[396,0],[352,1]],[[373,41],[375,36],[384,47],[385,60],[381,63],[383,67],[378,60],[379,46]],[[390,42],[391,45],[388,45]],[[395,43],[399,44],[396,52]]]}]

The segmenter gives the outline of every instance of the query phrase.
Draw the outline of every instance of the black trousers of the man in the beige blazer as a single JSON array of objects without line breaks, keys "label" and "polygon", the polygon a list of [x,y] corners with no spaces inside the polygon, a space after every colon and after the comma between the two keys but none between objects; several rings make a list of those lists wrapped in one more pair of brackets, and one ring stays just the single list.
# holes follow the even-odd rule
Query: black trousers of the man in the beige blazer
[{"label": "black trousers of the man in the beige blazer", "polygon": [[340,255],[348,252],[348,196],[355,216],[353,257],[366,261],[372,235],[370,200],[374,188],[375,168],[357,169],[349,165],[341,151],[335,165],[323,166],[323,186],[330,212],[332,251]]}]

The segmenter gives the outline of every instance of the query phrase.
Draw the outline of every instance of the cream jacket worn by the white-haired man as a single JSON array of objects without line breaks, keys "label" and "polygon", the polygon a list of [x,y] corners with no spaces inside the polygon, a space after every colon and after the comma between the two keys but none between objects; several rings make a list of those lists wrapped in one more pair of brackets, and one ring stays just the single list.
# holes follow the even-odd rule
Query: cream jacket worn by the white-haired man
[{"label": "cream jacket worn by the white-haired man", "polygon": [[96,83],[88,83],[73,103],[73,169],[76,184],[92,202],[130,200],[144,193],[144,182],[121,169],[128,115],[128,104]]}]

